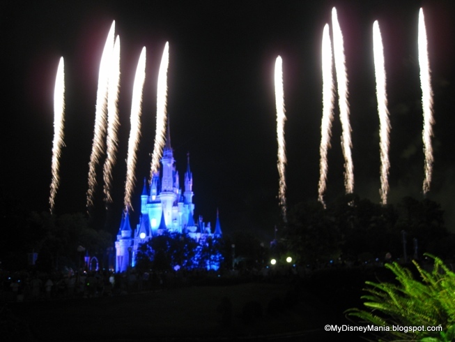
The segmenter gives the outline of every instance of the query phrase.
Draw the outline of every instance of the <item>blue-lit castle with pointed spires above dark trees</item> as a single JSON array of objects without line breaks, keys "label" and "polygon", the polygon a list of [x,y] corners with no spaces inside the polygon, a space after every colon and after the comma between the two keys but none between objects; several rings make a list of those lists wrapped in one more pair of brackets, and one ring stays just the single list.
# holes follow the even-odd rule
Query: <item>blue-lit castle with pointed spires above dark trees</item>
[{"label": "blue-lit castle with pointed spires above dark trees", "polygon": [[194,222],[193,176],[190,170],[190,156],[188,154],[185,191],[182,193],[171,148],[169,124],[161,164],[161,178],[160,174],[153,174],[149,188],[144,180],[144,189],[141,194],[141,215],[134,231],[130,226],[128,211],[122,214],[115,242],[116,272],[125,272],[129,266],[134,267],[139,244],[147,242],[157,235],[162,235],[163,232],[186,233],[199,244],[203,244],[208,237],[222,235],[218,215],[214,232],[211,231],[210,223],[206,225],[201,217],[197,223]]}]

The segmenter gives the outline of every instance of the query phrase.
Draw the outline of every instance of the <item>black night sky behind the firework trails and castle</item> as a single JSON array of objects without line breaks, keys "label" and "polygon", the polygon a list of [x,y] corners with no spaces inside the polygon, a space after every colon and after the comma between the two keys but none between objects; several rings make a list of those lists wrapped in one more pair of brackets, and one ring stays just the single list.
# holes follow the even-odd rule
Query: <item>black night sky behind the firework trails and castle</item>
[{"label": "black night sky behind the firework trails and castle", "polygon": [[[156,83],[169,41],[168,115],[183,185],[186,154],[194,177],[196,217],[222,229],[267,238],[278,224],[275,59],[283,58],[287,200],[316,200],[321,140],[321,38],[337,7],[349,80],[355,193],[379,202],[379,119],[371,32],[378,20],[385,48],[390,120],[389,202],[423,198],[422,107],[417,22],[423,6],[434,92],[431,200],[455,230],[454,1],[3,1],[0,5],[1,187],[32,210],[49,210],[53,94],[65,59],[65,147],[56,214],[86,211],[98,69],[111,23],[121,39],[119,148],[114,203],[102,202],[102,166],[91,210],[115,233],[121,218],[132,84],[147,49],[141,141],[133,195],[148,177],[155,137]],[[366,4],[367,3],[367,4]],[[331,24],[331,23],[330,23]],[[329,151],[327,202],[344,193],[338,110]],[[102,161],[104,163],[104,161]],[[101,165],[102,165],[101,163]]]}]

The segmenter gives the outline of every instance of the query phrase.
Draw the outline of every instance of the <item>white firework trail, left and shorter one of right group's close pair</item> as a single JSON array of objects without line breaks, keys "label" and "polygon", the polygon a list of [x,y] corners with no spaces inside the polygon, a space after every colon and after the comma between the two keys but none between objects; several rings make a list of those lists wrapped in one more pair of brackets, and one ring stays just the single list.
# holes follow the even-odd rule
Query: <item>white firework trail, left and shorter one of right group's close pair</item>
[{"label": "white firework trail, left and shorter one of right group's close pair", "polygon": [[325,24],[322,44],[322,69],[323,69],[323,119],[321,122],[321,146],[319,154],[319,195],[318,201],[324,207],[323,194],[327,181],[327,150],[330,148],[330,137],[332,131],[333,108],[334,108],[334,83],[332,71],[332,43],[330,43],[329,25]]}]

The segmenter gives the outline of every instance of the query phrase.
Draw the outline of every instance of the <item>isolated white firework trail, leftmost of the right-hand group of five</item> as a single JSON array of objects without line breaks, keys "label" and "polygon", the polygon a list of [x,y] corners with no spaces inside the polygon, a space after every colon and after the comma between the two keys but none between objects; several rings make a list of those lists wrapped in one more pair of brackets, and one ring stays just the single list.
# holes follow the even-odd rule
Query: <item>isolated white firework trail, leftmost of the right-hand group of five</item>
[{"label": "isolated white firework trail, leftmost of the right-hand group of five", "polygon": [[275,61],[275,103],[277,107],[277,141],[278,141],[278,173],[279,173],[279,205],[282,208],[283,221],[286,222],[286,149],[284,146],[284,90],[283,90],[283,61],[277,57]]}]

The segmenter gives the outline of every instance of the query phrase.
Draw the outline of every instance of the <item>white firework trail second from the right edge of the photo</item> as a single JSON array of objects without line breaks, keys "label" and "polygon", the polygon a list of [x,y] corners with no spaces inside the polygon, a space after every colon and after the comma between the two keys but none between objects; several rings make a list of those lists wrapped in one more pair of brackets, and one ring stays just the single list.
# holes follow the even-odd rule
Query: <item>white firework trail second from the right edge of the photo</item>
[{"label": "white firework trail second from the right edge of the photo", "polygon": [[387,92],[385,82],[385,63],[383,40],[380,36],[378,21],[373,23],[373,52],[374,70],[376,75],[376,97],[378,99],[379,114],[379,148],[380,148],[380,200],[383,205],[387,204],[389,191],[389,133],[390,121],[387,110]]}]

